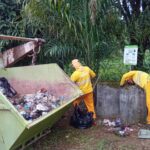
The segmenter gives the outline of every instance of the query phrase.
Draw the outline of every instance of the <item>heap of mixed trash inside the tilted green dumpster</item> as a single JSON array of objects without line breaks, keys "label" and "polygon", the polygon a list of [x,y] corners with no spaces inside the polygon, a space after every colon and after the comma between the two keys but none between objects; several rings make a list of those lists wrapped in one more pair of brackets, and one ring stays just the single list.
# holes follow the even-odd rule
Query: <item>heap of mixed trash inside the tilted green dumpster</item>
[{"label": "heap of mixed trash inside the tilted green dumpster", "polygon": [[44,88],[33,94],[19,95],[6,78],[0,78],[0,91],[28,121],[46,115],[64,101],[64,96],[56,97]]}]

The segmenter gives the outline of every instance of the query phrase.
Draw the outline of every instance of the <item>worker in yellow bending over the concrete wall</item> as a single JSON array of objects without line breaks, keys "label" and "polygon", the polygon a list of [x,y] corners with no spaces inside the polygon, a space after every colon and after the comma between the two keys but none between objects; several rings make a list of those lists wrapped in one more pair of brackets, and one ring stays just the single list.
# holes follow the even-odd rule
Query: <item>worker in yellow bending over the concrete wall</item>
[{"label": "worker in yellow bending over the concrete wall", "polygon": [[150,76],[143,71],[129,71],[121,79],[120,85],[125,83],[135,83],[144,89],[146,93],[146,106],[148,109],[147,124],[150,124]]}]

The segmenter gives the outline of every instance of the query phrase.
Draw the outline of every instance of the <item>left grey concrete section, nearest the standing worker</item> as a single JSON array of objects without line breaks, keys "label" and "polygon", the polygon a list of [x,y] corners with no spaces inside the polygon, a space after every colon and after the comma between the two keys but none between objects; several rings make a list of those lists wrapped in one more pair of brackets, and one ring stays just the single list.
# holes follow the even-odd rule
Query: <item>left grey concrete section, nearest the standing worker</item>
[{"label": "left grey concrete section, nearest the standing worker", "polygon": [[96,112],[102,118],[119,116],[119,90],[108,85],[97,86]]}]

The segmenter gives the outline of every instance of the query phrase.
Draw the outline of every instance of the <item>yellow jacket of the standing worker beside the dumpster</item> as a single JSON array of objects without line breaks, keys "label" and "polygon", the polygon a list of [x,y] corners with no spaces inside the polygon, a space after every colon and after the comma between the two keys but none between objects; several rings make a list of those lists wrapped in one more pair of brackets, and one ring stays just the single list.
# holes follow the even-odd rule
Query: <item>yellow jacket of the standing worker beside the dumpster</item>
[{"label": "yellow jacket of the standing worker beside the dumpster", "polygon": [[91,78],[94,78],[96,74],[87,66],[82,66],[81,68],[74,71],[71,75],[71,80],[75,82],[80,90],[84,93],[91,93],[93,91]]}]

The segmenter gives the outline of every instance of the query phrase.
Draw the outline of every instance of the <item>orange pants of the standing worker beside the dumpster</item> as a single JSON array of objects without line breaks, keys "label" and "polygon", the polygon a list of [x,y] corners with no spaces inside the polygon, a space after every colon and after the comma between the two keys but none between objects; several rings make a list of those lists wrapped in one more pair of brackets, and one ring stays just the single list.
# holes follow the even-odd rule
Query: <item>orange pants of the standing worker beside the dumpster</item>
[{"label": "orange pants of the standing worker beside the dumpster", "polygon": [[93,100],[93,92],[85,94],[73,102],[73,105],[79,105],[80,102],[84,100],[84,103],[88,109],[88,112],[93,112],[93,118],[96,119],[96,113],[94,109],[94,100]]}]

